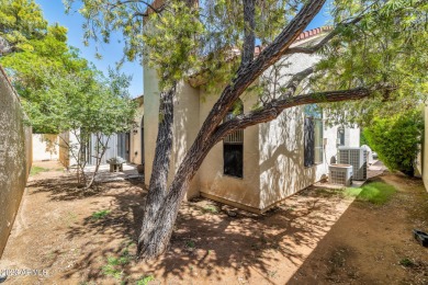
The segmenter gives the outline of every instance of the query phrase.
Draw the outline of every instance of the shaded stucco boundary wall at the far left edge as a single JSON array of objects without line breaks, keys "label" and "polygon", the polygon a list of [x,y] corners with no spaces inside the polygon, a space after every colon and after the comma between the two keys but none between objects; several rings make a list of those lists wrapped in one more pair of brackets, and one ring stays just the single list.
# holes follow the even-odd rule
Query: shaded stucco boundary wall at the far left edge
[{"label": "shaded stucco boundary wall at the far left edge", "polygon": [[21,203],[32,162],[32,132],[18,94],[0,67],[0,256]]}]

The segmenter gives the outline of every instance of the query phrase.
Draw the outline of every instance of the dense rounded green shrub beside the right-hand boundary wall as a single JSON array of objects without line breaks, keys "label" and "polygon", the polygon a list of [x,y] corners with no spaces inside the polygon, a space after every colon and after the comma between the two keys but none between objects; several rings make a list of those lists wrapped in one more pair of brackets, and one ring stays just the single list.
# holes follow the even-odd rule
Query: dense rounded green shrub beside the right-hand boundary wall
[{"label": "dense rounded green shrub beside the right-hand boundary wall", "polygon": [[423,132],[421,112],[410,111],[388,118],[373,119],[364,128],[363,135],[388,169],[413,175]]}]

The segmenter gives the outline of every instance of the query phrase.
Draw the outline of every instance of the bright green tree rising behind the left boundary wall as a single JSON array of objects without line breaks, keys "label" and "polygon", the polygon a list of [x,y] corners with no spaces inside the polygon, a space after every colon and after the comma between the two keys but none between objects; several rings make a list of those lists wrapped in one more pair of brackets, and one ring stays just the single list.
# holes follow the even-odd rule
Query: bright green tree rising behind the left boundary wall
[{"label": "bright green tree rising behind the left boundary wall", "polygon": [[[0,64],[20,94],[34,133],[58,133],[58,112],[53,110],[56,78],[90,77],[95,72],[79,50],[67,45],[67,29],[48,25],[33,0],[0,0]],[[1,48],[0,48],[1,49]]]}]

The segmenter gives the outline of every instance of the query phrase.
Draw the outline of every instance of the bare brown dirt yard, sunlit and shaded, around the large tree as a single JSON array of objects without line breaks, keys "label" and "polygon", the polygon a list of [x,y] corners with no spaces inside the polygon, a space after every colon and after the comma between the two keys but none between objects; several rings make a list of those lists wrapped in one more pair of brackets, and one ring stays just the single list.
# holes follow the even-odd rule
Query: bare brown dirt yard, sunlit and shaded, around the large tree
[{"label": "bare brown dirt yard, sunlit and shaded, around the large tree", "polygon": [[[418,179],[374,205],[312,187],[264,215],[207,200],[184,203],[168,252],[135,261],[146,191],[140,181],[91,193],[56,163],[37,163],[0,260],[1,270],[45,270],[7,284],[428,284],[428,193]],[[237,216],[227,215],[234,210]],[[229,213],[230,214],[230,213]]]}]

